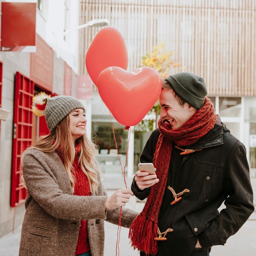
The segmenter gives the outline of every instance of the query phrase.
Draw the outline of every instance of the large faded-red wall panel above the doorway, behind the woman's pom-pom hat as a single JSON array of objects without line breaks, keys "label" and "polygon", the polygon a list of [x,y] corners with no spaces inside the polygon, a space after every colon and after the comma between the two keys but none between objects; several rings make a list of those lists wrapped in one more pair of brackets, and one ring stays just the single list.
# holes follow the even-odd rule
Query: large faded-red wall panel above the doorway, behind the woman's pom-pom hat
[{"label": "large faded-red wall panel above the doorway, behind the woman's pom-pom hat", "polygon": [[30,56],[30,79],[39,87],[52,92],[54,52],[37,34],[36,53]]}]

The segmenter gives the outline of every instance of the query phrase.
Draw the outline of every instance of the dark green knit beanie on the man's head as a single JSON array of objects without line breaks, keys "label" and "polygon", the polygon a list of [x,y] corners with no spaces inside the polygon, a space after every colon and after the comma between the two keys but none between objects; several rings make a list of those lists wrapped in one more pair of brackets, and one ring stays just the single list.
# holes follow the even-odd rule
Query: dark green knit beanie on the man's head
[{"label": "dark green knit beanie on the man's head", "polygon": [[180,72],[168,76],[165,81],[186,103],[197,110],[202,108],[204,97],[207,95],[206,85],[202,77],[189,72]]}]

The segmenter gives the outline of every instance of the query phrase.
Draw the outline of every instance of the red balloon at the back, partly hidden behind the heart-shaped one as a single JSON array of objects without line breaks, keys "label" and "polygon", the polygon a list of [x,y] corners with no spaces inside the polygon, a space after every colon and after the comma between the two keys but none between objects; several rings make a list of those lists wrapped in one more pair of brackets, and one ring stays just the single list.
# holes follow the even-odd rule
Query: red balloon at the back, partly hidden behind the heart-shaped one
[{"label": "red balloon at the back, partly hidden behind the heart-shaped one", "polygon": [[128,53],[121,33],[113,27],[101,29],[86,52],[85,65],[95,85],[100,72],[106,67],[117,66],[126,70]]}]

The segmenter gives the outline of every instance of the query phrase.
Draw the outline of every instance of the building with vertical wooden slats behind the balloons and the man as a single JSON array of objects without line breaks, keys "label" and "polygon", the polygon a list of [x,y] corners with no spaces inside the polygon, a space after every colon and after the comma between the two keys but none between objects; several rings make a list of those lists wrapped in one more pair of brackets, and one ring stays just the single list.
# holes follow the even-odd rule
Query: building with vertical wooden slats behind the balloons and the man
[{"label": "building with vertical wooden slats behind the balloons and the man", "polygon": [[[256,3],[254,0],[80,0],[80,24],[107,18],[124,36],[129,56],[128,71],[135,70],[141,57],[164,43],[175,52],[183,70],[204,78],[216,113],[247,148],[256,168]],[[79,74],[87,74],[84,57],[99,28],[79,35]],[[180,72],[179,67],[172,70]],[[119,153],[126,155],[128,132],[114,121],[119,136]],[[109,111],[96,87],[92,101],[92,131],[103,154],[99,164],[110,174],[117,163]],[[128,173],[137,171],[139,155],[150,132],[132,132]],[[114,152],[114,151],[112,151]],[[101,151],[99,152],[101,153]],[[130,166],[130,168],[129,168]],[[119,174],[118,174],[119,173]]]}]

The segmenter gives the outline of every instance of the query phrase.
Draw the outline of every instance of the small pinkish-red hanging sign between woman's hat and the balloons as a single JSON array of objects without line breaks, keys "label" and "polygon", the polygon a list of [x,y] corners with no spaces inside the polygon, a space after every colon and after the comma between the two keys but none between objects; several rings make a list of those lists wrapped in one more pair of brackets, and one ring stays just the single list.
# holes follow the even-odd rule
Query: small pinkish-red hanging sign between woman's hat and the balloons
[{"label": "small pinkish-red hanging sign between woman's hat and the balloons", "polygon": [[92,79],[89,75],[77,76],[77,99],[92,99]]}]

